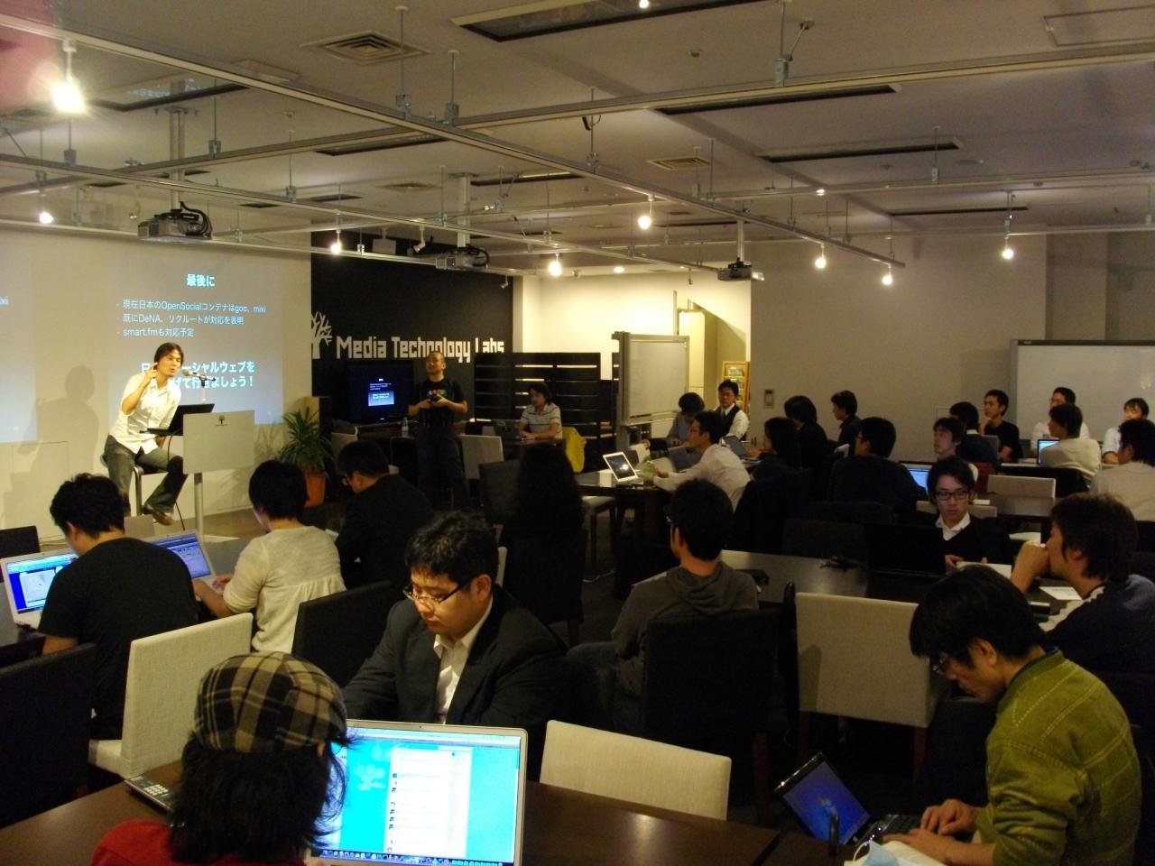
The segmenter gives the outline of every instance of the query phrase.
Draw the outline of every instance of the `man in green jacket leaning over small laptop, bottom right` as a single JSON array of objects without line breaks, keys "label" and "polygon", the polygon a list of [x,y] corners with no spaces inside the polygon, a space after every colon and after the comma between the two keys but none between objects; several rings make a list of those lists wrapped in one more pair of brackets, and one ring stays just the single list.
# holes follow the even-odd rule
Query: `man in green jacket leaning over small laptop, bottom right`
[{"label": "man in green jacket leaning over small laptop, bottom right", "polygon": [[[910,649],[984,703],[985,808],[931,806],[892,836],[948,864],[1130,865],[1139,827],[1139,761],[1126,714],[1102,682],[1043,649],[1027,599],[985,566],[933,584],[915,610]],[[952,838],[978,830],[982,844]]]}]

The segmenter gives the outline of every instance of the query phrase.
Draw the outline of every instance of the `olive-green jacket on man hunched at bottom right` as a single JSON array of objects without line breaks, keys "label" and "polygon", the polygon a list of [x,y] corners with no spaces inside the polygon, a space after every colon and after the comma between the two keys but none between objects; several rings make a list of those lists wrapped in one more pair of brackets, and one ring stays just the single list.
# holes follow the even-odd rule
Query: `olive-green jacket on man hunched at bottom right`
[{"label": "olive-green jacket on man hunched at bottom right", "polygon": [[999,700],[986,790],[978,830],[994,866],[1131,866],[1141,790],[1127,716],[1061,652],[1023,667]]}]

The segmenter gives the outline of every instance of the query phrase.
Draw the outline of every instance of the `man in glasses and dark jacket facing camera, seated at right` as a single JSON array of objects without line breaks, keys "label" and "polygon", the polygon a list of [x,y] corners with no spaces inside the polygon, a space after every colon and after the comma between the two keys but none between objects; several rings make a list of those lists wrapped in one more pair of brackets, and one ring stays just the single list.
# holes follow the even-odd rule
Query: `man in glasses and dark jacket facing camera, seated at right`
[{"label": "man in glasses and dark jacket facing camera, seated at right", "polygon": [[933,522],[942,530],[947,570],[959,562],[1012,561],[1011,538],[998,517],[970,514],[970,503],[975,501],[975,477],[970,470],[970,464],[961,457],[938,461],[926,476],[926,487],[938,507],[938,516],[916,515],[918,522]]}]

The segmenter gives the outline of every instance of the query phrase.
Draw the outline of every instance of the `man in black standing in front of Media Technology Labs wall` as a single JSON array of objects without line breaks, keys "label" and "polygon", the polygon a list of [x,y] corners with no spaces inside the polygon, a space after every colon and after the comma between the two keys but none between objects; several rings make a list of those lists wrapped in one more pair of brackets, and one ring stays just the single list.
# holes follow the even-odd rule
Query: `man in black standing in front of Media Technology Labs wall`
[{"label": "man in black standing in front of Media Technology Labs wall", "polygon": [[453,491],[454,508],[469,507],[465,470],[453,432],[455,415],[469,412],[461,386],[445,375],[445,356],[437,350],[425,357],[427,379],[413,388],[416,403],[409,405],[409,417],[417,417],[417,470],[419,486],[435,510],[450,507],[445,488]]}]

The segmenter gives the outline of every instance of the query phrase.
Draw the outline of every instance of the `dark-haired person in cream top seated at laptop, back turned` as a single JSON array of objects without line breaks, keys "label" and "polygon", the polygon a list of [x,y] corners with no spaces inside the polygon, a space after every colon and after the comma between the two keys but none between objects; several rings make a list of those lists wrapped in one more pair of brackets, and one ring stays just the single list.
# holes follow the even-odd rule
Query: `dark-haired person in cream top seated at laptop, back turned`
[{"label": "dark-haired person in cream top seated at laptop, back turned", "polygon": [[300,603],[345,588],[333,539],[325,530],[300,522],[307,495],[305,476],[297,466],[264,461],[248,479],[248,499],[267,535],[245,546],[231,575],[216,578],[223,595],[203,581],[193,587],[217,617],[253,611],[255,650],[291,650]]}]

